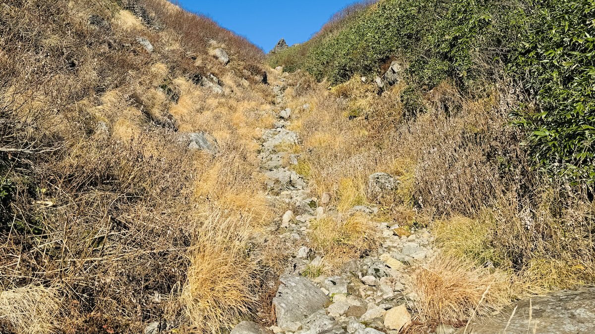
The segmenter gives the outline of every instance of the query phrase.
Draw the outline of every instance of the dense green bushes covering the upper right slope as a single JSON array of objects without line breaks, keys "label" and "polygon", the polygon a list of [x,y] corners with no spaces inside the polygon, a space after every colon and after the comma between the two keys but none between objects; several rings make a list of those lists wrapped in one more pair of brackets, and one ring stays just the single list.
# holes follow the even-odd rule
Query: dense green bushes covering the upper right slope
[{"label": "dense green bushes covering the upper right slope", "polygon": [[404,59],[409,84],[425,92],[450,80],[478,94],[514,77],[523,95],[538,102],[514,115],[529,134],[536,165],[592,181],[593,8],[593,0],[384,0],[270,62],[338,84]]}]

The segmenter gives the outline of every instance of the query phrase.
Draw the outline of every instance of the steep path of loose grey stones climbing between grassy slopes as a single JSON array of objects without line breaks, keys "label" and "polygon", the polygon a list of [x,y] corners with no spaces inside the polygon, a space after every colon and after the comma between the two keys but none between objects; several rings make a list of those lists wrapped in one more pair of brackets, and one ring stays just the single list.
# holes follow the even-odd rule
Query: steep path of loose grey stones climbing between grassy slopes
[{"label": "steep path of loose grey stones climbing between grassy slopes", "polygon": [[[436,256],[434,239],[426,229],[411,233],[394,222],[377,222],[377,249],[339,268],[328,266],[327,254],[312,243],[312,225],[345,215],[372,220],[378,208],[355,206],[348,213],[337,212],[328,198],[316,197],[314,185],[305,176],[292,170],[297,165],[300,138],[287,128],[300,111],[285,108],[287,86],[283,78],[280,81],[273,87],[278,119],[274,128],[264,131],[258,156],[267,177],[268,199],[282,209],[275,220],[275,233],[293,253],[273,300],[277,326],[271,329],[275,333],[330,330],[337,334],[400,330],[411,322],[405,305],[415,297],[405,288],[409,271]],[[371,175],[371,182],[376,179],[377,175]],[[246,326],[236,327],[236,332],[245,332],[250,327]]]}]

